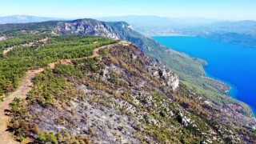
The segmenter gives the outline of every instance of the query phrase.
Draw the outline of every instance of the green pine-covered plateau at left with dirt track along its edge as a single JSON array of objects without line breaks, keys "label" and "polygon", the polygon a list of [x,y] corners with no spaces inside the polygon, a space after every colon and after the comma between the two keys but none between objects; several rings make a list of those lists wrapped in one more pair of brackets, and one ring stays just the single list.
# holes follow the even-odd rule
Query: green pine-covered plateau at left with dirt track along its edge
[{"label": "green pine-covered plateau at left with dirt track along its edge", "polygon": [[[25,33],[23,36],[25,35],[27,35],[27,33]],[[34,37],[39,35],[40,34],[34,34]],[[0,58],[0,70],[1,70],[1,77],[2,77],[0,81],[0,86],[1,86],[0,98],[1,98],[1,101],[3,101],[3,102],[0,102],[0,108],[1,108],[0,139],[2,140],[2,142],[18,143],[11,140],[11,139],[14,140],[14,138],[10,136],[11,134],[8,132],[8,131],[13,131],[12,129],[10,129],[9,122],[10,122],[10,118],[15,119],[18,117],[18,114],[24,114],[26,111],[22,111],[22,112],[18,111],[19,112],[18,114],[10,114],[9,113],[10,110],[8,110],[8,107],[10,106],[12,108],[13,110],[12,112],[14,111],[17,112],[19,107],[22,108],[22,106],[15,107],[12,104],[10,104],[10,102],[12,102],[13,100],[15,102],[18,102],[19,99],[25,99],[27,94],[30,93],[30,90],[32,89],[34,84],[33,82],[31,82],[32,78],[34,78],[36,74],[39,74],[44,70],[43,68],[40,68],[40,66],[42,66],[41,64],[44,63],[42,61],[45,61],[46,59],[48,59],[46,60],[47,62],[45,61],[46,63],[43,65],[47,66],[48,63],[52,62],[49,64],[49,66],[50,68],[53,69],[56,63],[58,64],[68,63],[71,61],[71,58],[74,58],[74,60],[82,60],[85,58],[97,57],[98,50],[105,48],[104,46],[107,44],[117,42],[117,41],[106,39],[106,38],[88,37],[88,36],[74,36],[72,38],[71,37],[53,38],[54,35],[49,34],[48,37],[50,41],[48,41],[47,44],[46,42],[42,42],[42,41],[34,41],[33,45],[17,46],[17,47],[14,47],[13,50],[10,50],[10,52],[8,52],[7,54],[3,54],[3,57]],[[65,44],[65,42],[63,42],[63,39],[66,39],[65,42],[67,42],[66,45],[69,46],[68,48],[63,47],[63,45]],[[42,44],[42,45],[39,47],[39,44]],[[37,45],[38,47],[34,47],[34,45]],[[51,49],[49,49],[49,47]],[[61,50],[58,50],[60,47],[62,47]],[[56,50],[55,52],[54,52],[54,49]],[[75,49],[78,49],[78,50],[75,50]],[[74,54],[73,56],[72,54],[67,55],[67,54],[70,54],[70,50],[72,50],[72,54]],[[34,55],[35,53],[37,53],[38,56],[35,56]],[[45,56],[42,56],[44,54],[47,54],[46,57],[48,58],[46,58]],[[50,54],[53,54],[53,55],[50,56]],[[41,56],[39,55],[41,55],[44,58],[40,58]],[[56,56],[59,58],[56,59]],[[30,58],[34,58],[34,60],[31,61]],[[65,59],[65,58],[69,58],[69,59]],[[25,62],[23,61],[24,59],[26,59]],[[62,59],[62,61],[55,62],[55,61],[58,61],[58,59]],[[35,66],[34,64],[37,66]],[[18,79],[19,77],[20,79]],[[10,93],[12,91],[14,91],[14,93]],[[7,98],[4,98],[6,96]],[[17,122],[17,121],[14,120],[14,122]],[[34,129],[34,127],[29,129]],[[26,128],[22,127],[22,130],[26,130]],[[17,139],[22,141],[23,138],[21,136],[21,137],[17,137]]]}]

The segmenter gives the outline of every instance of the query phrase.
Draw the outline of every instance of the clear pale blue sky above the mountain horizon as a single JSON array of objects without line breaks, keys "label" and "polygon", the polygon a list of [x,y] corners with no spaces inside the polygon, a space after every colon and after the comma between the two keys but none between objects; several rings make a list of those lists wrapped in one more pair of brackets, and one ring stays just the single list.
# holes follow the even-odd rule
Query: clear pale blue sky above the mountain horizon
[{"label": "clear pale blue sky above the mountain horizon", "polygon": [[56,18],[158,15],[256,20],[256,0],[0,0],[0,16]]}]

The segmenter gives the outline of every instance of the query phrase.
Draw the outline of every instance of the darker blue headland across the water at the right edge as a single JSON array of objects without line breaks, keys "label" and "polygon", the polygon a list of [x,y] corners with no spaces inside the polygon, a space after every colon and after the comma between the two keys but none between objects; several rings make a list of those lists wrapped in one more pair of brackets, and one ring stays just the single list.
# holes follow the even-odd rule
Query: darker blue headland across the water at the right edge
[{"label": "darker blue headland across the water at the right edge", "polygon": [[231,42],[241,46],[256,48],[256,22],[215,22],[209,26],[198,26],[194,29],[181,30],[187,35],[210,38],[220,42]]}]

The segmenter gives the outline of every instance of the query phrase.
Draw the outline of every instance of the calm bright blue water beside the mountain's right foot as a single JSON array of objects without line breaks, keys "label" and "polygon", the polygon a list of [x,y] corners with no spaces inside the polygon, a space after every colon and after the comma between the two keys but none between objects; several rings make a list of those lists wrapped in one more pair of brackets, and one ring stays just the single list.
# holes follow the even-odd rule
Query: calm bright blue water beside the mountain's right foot
[{"label": "calm bright blue water beside the mountain's right foot", "polygon": [[256,49],[198,37],[153,39],[190,57],[206,60],[206,74],[229,84],[229,94],[250,105],[256,116]]}]

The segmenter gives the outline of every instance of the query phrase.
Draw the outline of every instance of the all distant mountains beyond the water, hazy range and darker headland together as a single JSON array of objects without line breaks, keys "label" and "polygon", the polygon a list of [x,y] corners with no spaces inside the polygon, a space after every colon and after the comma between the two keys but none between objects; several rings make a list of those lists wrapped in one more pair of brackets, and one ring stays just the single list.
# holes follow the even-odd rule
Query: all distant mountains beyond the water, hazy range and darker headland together
[{"label": "all distant mountains beyond the water, hazy range and darker headland together", "polygon": [[255,21],[223,21],[207,18],[163,18],[125,16],[98,18],[102,21],[125,21],[146,36],[187,35],[210,38],[256,48]]}]

